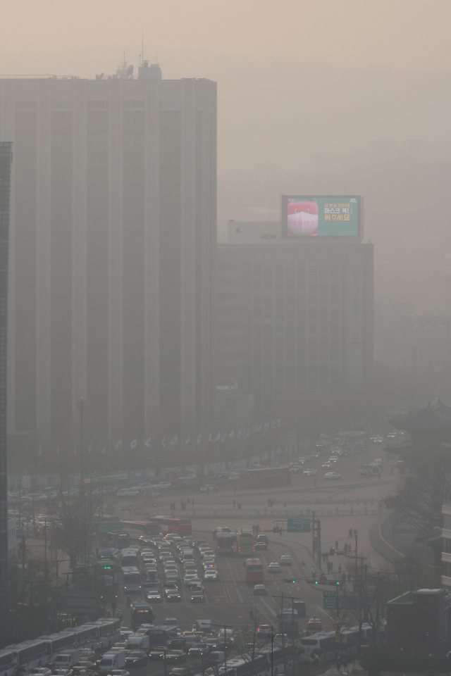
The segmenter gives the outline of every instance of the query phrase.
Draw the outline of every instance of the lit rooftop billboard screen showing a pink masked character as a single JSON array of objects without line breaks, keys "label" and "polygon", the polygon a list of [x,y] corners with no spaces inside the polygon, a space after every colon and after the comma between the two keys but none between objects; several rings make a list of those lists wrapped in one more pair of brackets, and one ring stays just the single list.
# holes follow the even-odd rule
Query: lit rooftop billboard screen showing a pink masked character
[{"label": "lit rooftop billboard screen showing a pink masked character", "polygon": [[357,195],[283,195],[285,237],[359,237]]}]

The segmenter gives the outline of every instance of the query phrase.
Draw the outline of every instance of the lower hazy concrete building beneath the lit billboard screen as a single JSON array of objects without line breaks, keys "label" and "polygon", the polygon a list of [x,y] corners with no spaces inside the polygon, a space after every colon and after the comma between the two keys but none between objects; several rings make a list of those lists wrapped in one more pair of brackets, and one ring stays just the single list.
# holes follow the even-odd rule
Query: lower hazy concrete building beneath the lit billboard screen
[{"label": "lower hazy concrete building beneath the lit billboard screen", "polygon": [[372,244],[220,244],[216,287],[216,383],[253,393],[257,414],[299,394],[367,382]]}]

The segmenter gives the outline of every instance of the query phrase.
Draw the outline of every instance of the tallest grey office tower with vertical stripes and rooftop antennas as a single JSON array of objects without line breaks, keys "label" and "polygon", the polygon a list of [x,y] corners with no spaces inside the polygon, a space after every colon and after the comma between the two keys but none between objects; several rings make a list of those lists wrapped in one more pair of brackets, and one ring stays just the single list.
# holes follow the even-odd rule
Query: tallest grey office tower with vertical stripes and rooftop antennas
[{"label": "tallest grey office tower with vertical stripes and rooftop antennas", "polygon": [[130,75],[0,80],[8,425],[42,453],[78,443],[80,396],[93,448],[193,438],[210,415],[216,83]]}]

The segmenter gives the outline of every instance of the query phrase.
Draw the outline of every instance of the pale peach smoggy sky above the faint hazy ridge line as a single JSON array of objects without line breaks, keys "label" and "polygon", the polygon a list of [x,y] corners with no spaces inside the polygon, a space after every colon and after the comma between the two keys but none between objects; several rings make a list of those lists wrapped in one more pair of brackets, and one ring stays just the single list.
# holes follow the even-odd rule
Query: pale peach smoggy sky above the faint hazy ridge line
[{"label": "pale peach smoggy sky above the faint hazy ridge line", "polygon": [[449,0],[2,0],[0,54],[146,44],[337,65],[451,66]]}]

